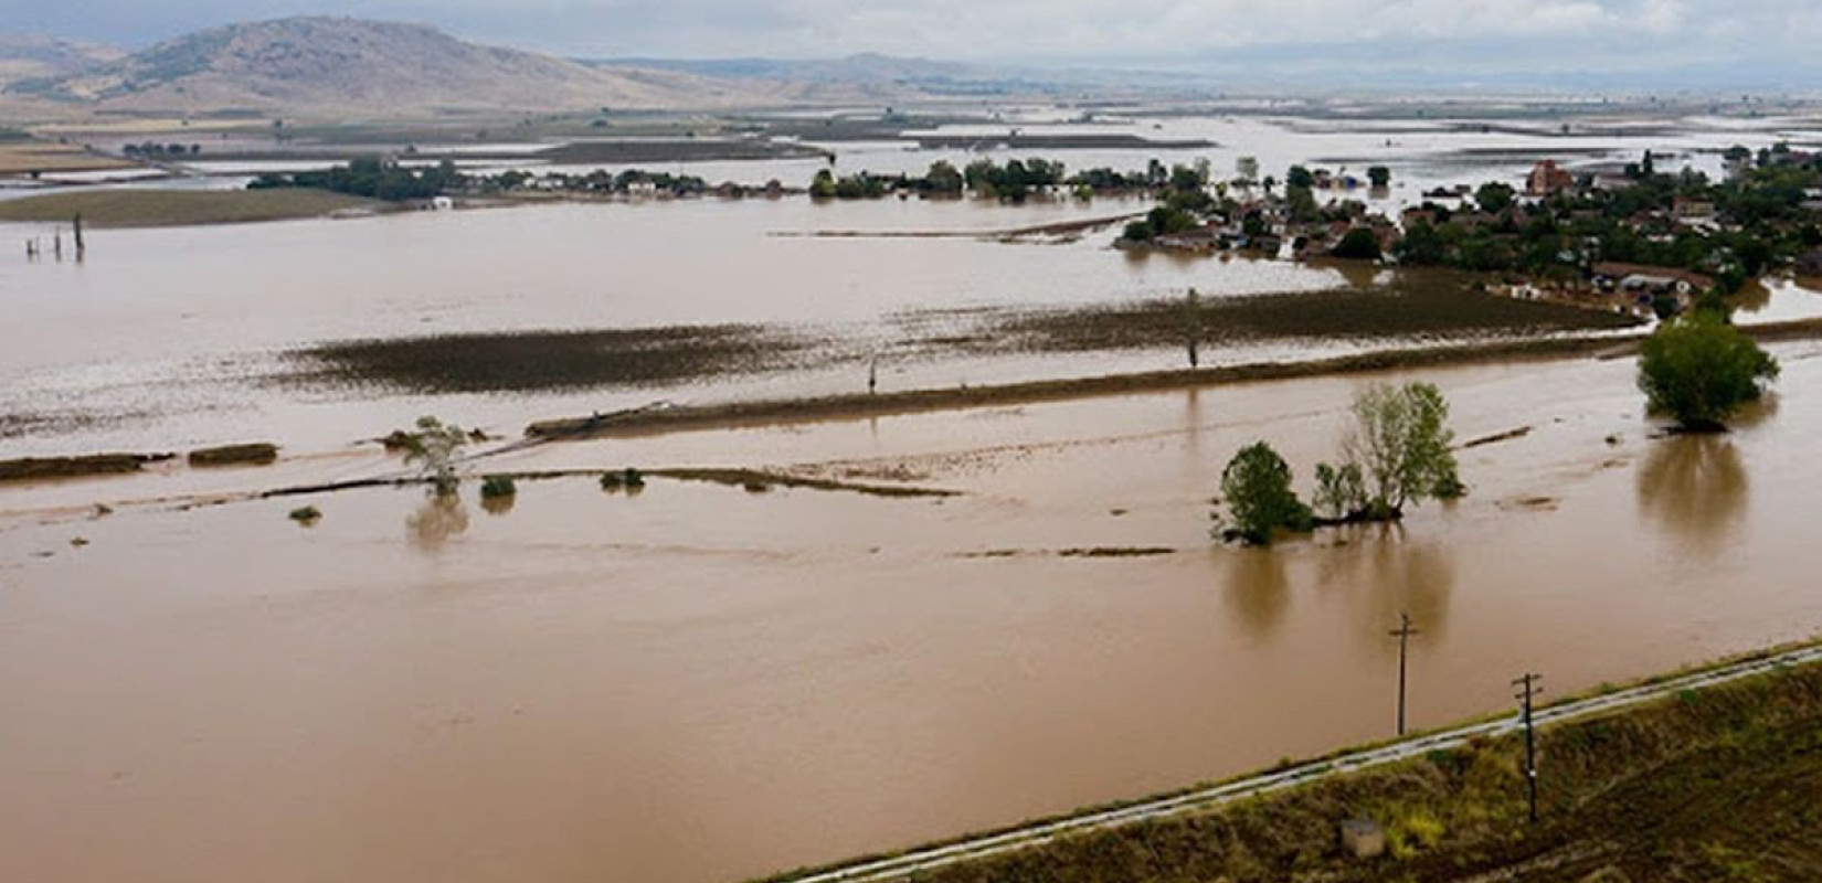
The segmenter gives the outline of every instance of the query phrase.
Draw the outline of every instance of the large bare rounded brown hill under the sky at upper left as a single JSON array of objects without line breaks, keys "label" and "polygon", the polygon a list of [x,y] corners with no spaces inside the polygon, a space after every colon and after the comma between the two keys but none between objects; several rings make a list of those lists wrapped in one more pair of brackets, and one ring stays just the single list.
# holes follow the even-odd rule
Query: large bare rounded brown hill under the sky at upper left
[{"label": "large bare rounded brown hill under the sky at upper left", "polygon": [[448,109],[712,107],[740,89],[687,71],[585,66],[434,27],[281,18],[179,36],[9,93],[111,111],[421,117]]}]

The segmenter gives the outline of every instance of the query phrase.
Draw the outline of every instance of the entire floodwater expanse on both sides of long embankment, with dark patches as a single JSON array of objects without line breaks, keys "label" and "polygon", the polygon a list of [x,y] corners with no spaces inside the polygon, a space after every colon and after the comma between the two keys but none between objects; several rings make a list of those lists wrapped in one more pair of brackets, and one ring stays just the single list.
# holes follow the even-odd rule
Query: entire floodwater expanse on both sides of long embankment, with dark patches
[{"label": "entire floodwater expanse on both sides of long embankment, with dark patches", "polygon": [[[1649,144],[1709,167],[1795,126],[1684,120]],[[1217,167],[1385,160],[1390,200],[1647,144],[1126,127],[1204,138],[1164,158]],[[966,155],[860,146],[836,167]],[[871,375],[1181,368],[1184,324],[1203,364],[1629,326],[1372,268],[1130,255],[1111,228],[1000,235],[1146,208],[558,204],[97,231],[80,266],[0,260],[0,457],[282,446],[259,470],[0,490],[0,878],[736,881],[1387,737],[1399,612],[1423,630],[1418,726],[1503,710],[1521,670],[1561,695],[1822,628],[1804,342],[1776,348],[1782,395],[1720,437],[1660,437],[1631,359],[1561,359],[517,441]],[[978,237],[869,235],[933,231]],[[1818,302],[1771,280],[1740,317]],[[1308,492],[1381,377],[1441,384],[1461,441],[1500,439],[1459,452],[1467,499],[1272,550],[1210,539],[1237,448],[1270,441]],[[363,441],[421,413],[496,435],[459,499],[262,497],[403,475]],[[598,484],[627,466],[643,488]],[[483,501],[485,473],[547,477]]]}]

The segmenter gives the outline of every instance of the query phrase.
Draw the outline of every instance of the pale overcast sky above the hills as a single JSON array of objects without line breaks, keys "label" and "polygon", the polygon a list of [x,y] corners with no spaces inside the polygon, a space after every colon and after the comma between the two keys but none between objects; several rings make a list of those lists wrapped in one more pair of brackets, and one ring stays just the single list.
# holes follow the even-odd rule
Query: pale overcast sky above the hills
[{"label": "pale overcast sky above the hills", "polygon": [[[0,27],[138,47],[284,15],[359,15],[576,56],[1144,64],[1352,58],[1445,75],[1536,66],[1800,66],[1822,0],[15,0]],[[18,9],[24,7],[24,9]],[[1323,47],[1323,49],[1312,49]],[[1817,84],[1793,84],[1817,86]]]}]

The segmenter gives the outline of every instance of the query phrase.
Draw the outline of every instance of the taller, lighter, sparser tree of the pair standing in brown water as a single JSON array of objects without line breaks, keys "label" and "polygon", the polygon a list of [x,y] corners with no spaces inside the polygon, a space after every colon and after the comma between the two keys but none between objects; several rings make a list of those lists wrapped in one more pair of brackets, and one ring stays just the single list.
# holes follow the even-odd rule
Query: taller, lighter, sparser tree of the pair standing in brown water
[{"label": "taller, lighter, sparser tree of the pair standing in brown water", "polygon": [[1359,470],[1365,506],[1346,517],[1397,521],[1408,504],[1461,495],[1448,402],[1434,384],[1368,386],[1354,395],[1352,415],[1343,468]]}]

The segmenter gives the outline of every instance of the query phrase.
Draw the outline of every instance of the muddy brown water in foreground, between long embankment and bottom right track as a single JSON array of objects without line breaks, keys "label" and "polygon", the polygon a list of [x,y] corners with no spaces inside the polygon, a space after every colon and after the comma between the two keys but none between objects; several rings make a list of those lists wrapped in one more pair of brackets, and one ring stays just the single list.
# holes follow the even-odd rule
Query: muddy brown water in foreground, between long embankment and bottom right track
[{"label": "muddy brown water in foreground, between long embankment and bottom right track", "polygon": [[[1361,379],[485,466],[942,501],[572,479],[82,513],[390,468],[359,452],[9,490],[0,878],[734,881],[1387,737],[1403,610],[1418,726],[1523,670],[1561,695],[1806,637],[1822,348],[1778,355],[1735,433],[1663,441],[1625,360],[1414,375],[1463,441],[1532,431],[1463,452],[1459,504],[1263,552],[1208,541],[1221,464],[1268,439],[1306,482]],[[1175,552],[1059,555],[1121,546]]]}]

